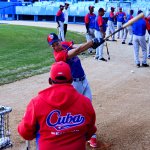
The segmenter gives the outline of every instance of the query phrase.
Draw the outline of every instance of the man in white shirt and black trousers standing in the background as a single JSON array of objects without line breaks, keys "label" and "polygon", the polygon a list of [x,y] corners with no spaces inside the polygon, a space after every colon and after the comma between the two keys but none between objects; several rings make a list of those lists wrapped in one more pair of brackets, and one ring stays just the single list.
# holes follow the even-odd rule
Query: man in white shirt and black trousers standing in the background
[{"label": "man in white shirt and black trousers standing in the background", "polygon": [[64,17],[65,17],[65,21],[64,21],[64,36],[65,37],[66,37],[67,25],[68,25],[68,7],[69,7],[69,3],[65,3],[65,9],[63,11]]}]

